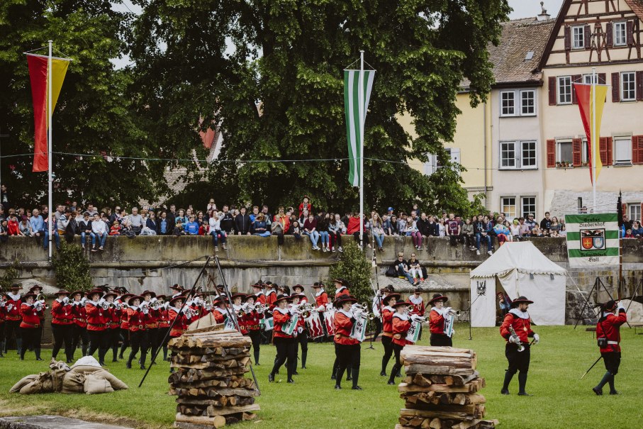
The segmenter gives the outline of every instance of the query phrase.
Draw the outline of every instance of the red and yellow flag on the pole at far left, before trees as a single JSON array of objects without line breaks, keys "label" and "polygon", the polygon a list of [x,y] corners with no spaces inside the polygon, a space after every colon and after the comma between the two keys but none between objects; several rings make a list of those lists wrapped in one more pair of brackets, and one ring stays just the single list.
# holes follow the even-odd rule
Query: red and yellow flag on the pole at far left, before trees
[{"label": "red and yellow flag on the pole at far left, before trees", "polygon": [[[50,58],[44,55],[27,54],[29,65],[29,77],[31,79],[31,98],[33,99],[33,121],[35,125],[35,140],[33,145],[33,171],[46,172],[49,169],[49,156],[47,153],[47,130],[49,118],[49,87],[47,77],[49,76]],[[62,58],[51,59],[52,78],[52,111],[56,107],[56,101],[62,88],[62,81],[65,80],[69,60]]]}]

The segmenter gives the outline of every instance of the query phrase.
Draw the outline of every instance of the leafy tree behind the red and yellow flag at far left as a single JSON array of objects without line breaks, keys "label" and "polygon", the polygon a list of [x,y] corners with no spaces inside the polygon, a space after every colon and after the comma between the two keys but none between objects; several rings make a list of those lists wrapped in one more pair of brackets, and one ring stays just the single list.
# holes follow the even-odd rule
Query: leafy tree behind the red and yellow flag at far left
[{"label": "leafy tree behind the red and yellow flag at far left", "polygon": [[[121,57],[132,16],[103,0],[3,0],[0,2],[0,131],[2,183],[11,202],[47,201],[46,172],[33,173],[33,107],[23,52],[54,41],[54,55],[72,58],[53,115],[54,201],[97,206],[153,199],[167,189],[163,165],[125,157],[156,157],[127,94]],[[47,50],[35,53],[47,54]],[[20,156],[25,154],[26,156]],[[6,156],[11,156],[6,158]],[[102,156],[101,156],[102,155]]]}]

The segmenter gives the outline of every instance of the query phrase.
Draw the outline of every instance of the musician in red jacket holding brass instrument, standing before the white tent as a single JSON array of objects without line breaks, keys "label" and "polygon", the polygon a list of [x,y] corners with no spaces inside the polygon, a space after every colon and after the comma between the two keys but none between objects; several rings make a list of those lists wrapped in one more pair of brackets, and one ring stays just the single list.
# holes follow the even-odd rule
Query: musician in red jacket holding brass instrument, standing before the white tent
[{"label": "musician in red jacket holding brass instrument, standing before the white tent", "polygon": [[[534,344],[537,344],[540,340],[538,334],[532,331],[529,313],[527,313],[527,308],[531,303],[534,303],[534,301],[528,300],[525,296],[519,296],[518,299],[514,299],[512,302],[513,308],[507,313],[500,327],[500,335],[507,341],[505,357],[509,362],[509,368],[505,372],[505,382],[501,390],[503,395],[509,394],[509,383],[514,374],[520,371],[520,374],[518,374],[518,395],[529,396],[525,391],[531,357],[529,338],[534,339]],[[511,333],[511,328],[513,328],[515,335]],[[519,352],[519,345],[525,347],[525,350]]]}]

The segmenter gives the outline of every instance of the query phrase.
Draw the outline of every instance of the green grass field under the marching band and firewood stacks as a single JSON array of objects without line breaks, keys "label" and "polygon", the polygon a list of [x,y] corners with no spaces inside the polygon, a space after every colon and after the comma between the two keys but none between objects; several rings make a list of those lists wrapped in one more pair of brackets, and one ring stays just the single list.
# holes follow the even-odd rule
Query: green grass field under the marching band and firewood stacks
[{"label": "green grass field under the marching band and firewood stacks", "polygon": [[[622,328],[622,363],[616,378],[620,396],[596,396],[591,391],[605,372],[603,362],[579,380],[598,357],[592,333],[579,326],[536,327],[541,342],[532,348],[527,391],[531,397],[517,396],[518,379],[510,386],[511,395],[500,394],[506,360],[504,341],[497,328],[476,328],[469,341],[468,325],[457,325],[455,347],[470,347],[478,352],[478,370],[486,379],[486,418],[497,418],[502,428],[639,428],[643,425],[643,335]],[[420,345],[427,344],[427,336]],[[311,344],[308,369],[299,369],[296,384],[268,383],[267,374],[274,359],[272,346],[262,347],[262,365],[255,372],[262,389],[257,403],[262,408],[253,422],[236,428],[393,428],[399,408],[404,403],[395,386],[387,386],[379,376],[382,347],[375,350],[362,345],[362,368],[359,384],[364,391],[335,391],[330,380],[334,347],[328,343]],[[152,368],[145,384],[139,389],[143,375],[140,369],[125,369],[125,362],[109,363],[108,368],[130,386],[127,391],[97,396],[43,394],[21,396],[9,389],[27,374],[48,369],[45,363],[50,350],[43,350],[45,362],[35,362],[28,353],[21,362],[16,352],[0,358],[0,415],[17,416],[54,413],[86,420],[130,425],[133,428],[169,428],[176,410],[174,396],[168,396],[169,363]],[[391,368],[389,364],[388,369]],[[605,386],[605,391],[607,391]]]}]

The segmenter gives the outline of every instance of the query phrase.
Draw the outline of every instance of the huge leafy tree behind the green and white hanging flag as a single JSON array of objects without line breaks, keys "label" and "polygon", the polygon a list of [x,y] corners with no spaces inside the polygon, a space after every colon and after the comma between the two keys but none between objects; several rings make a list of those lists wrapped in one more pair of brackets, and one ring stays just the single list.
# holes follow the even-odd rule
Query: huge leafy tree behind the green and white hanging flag
[{"label": "huge leafy tree behind the green and white hanging flag", "polygon": [[[197,131],[220,124],[220,157],[236,160],[206,172],[188,162],[194,177],[237,184],[240,200],[293,204],[308,194],[317,207],[355,208],[348,163],[337,159],[347,157],[342,69],[363,49],[377,70],[367,206],[471,209],[457,167],[426,177],[408,160],[435,153],[448,165],[442,143],[454,134],[457,90],[469,79],[472,105],[489,91],[486,45],[498,43],[506,0],[135,2],[143,13],[131,56],[150,138],[164,141],[163,154],[203,158]],[[413,116],[415,137],[403,114]]]}]

